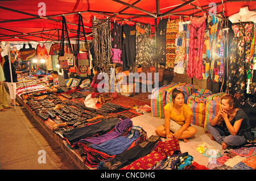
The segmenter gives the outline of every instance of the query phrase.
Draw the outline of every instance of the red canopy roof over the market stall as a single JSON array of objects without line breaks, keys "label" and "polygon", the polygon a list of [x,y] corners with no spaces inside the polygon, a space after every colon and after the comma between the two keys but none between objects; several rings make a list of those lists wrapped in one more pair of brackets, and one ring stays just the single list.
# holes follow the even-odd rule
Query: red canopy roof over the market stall
[{"label": "red canopy roof over the market stall", "polygon": [[[215,3],[212,4],[210,3]],[[248,6],[256,10],[255,1],[230,0],[57,0],[57,1],[1,1],[0,41],[59,41],[61,20],[65,16],[69,37],[77,36],[78,14],[81,13],[88,39],[92,33],[92,19],[111,18],[127,24],[135,22],[152,25],[152,32],[160,18],[204,16],[216,7],[216,12],[228,17]],[[82,39],[82,36],[81,36]]]}]

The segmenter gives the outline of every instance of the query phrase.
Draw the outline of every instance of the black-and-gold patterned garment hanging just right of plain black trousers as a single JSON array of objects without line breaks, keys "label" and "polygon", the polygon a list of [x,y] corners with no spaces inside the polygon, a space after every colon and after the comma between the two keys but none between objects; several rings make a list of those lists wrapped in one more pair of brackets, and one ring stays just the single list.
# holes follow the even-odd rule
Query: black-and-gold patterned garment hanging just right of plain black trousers
[{"label": "black-and-gold patterned garment hanging just right of plain black trousers", "polygon": [[150,35],[150,24],[136,23],[136,67],[155,66],[155,41]]}]

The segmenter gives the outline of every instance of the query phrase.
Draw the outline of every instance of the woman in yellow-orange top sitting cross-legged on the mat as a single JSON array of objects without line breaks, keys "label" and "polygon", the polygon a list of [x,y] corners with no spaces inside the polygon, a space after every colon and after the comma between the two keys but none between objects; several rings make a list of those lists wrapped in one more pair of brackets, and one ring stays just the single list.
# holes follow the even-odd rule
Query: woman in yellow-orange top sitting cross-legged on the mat
[{"label": "woman in yellow-orange top sitting cross-legged on the mat", "polygon": [[177,89],[172,91],[172,102],[164,106],[165,121],[156,128],[155,132],[161,137],[173,137],[187,142],[197,130],[190,125],[193,112],[184,104],[183,92]]}]

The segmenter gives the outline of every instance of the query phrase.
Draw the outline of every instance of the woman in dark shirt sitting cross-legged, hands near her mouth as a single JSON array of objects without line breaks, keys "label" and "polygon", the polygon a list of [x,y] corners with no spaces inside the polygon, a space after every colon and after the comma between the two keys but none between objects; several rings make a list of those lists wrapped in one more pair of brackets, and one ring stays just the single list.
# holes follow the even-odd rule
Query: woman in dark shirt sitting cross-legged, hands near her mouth
[{"label": "woman in dark shirt sitting cross-legged, hands near her mouth", "polygon": [[[238,108],[241,95],[225,95],[221,98],[221,110],[217,116],[207,124],[207,129],[212,134],[212,140],[222,145],[222,149],[228,146],[240,146],[246,143],[245,133],[250,132],[250,121],[245,112]],[[219,121],[223,125],[218,125]]]}]

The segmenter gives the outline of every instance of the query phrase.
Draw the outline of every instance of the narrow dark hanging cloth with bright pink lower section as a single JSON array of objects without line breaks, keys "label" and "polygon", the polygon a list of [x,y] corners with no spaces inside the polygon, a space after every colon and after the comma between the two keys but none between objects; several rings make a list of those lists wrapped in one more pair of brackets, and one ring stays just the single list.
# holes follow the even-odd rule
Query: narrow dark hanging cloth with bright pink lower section
[{"label": "narrow dark hanging cloth with bright pink lower section", "polygon": [[112,26],[112,62],[114,64],[123,64],[122,35],[123,35],[122,24],[114,22]]}]

